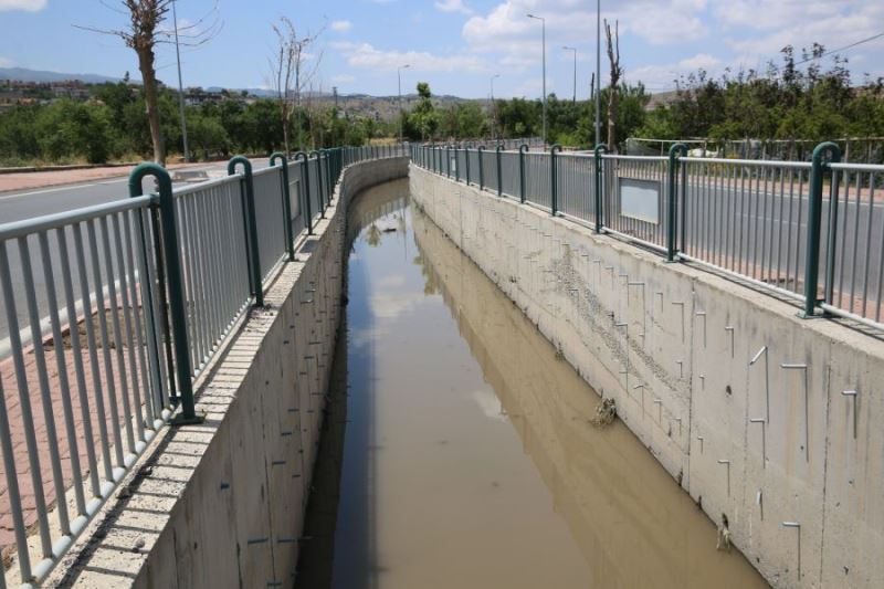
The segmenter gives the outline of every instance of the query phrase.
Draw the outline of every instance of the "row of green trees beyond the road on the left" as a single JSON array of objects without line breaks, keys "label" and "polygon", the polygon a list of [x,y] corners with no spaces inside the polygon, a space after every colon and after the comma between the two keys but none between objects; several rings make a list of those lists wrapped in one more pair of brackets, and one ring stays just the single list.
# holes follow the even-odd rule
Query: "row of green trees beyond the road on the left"
[{"label": "row of green trees beyond the road on the left", "polygon": [[[150,157],[154,143],[144,92],[119,83],[97,86],[94,94],[95,98],[85,103],[60,99],[0,114],[0,166],[83,160],[103,164]],[[162,150],[182,154],[178,95],[161,90],[157,98]],[[334,106],[308,105],[291,117],[284,129],[278,105],[272,99],[231,98],[187,108],[189,147],[198,158],[282,150],[285,132],[303,140],[293,147],[305,149],[362,145],[379,136],[392,136],[391,127],[365,117],[345,118]]]}]

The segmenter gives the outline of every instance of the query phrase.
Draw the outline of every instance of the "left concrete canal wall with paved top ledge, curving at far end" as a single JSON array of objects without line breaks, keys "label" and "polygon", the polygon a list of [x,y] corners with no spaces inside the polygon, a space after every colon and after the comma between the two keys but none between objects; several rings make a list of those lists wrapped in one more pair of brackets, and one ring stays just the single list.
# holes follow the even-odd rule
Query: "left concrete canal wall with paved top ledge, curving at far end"
[{"label": "left concrete canal wall with paved top ledge, curving at far end", "polygon": [[408,175],[408,159],[347,168],[224,355],[198,381],[199,425],[161,432],[48,586],[291,587],[346,272],[346,208]]}]

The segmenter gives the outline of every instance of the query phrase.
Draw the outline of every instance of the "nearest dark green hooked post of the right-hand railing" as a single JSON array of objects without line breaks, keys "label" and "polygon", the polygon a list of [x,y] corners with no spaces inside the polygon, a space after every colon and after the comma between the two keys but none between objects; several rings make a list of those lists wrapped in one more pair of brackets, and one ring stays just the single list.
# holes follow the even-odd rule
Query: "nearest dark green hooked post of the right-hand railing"
[{"label": "nearest dark green hooked post of the right-hand railing", "polygon": [[[804,308],[799,314],[800,317],[813,317],[817,311],[819,297],[817,291],[820,283],[820,241],[822,238],[822,188],[823,176],[829,164],[824,160],[829,156],[830,161],[841,161],[841,149],[838,145],[827,141],[818,145],[813,149],[810,169],[810,201],[808,208],[808,246],[807,265],[804,266]],[[830,207],[829,214],[829,255],[825,265],[825,288],[824,298],[831,295],[830,277],[832,276],[834,263],[834,244],[836,223],[838,223],[838,180],[832,178],[830,186]]]}]

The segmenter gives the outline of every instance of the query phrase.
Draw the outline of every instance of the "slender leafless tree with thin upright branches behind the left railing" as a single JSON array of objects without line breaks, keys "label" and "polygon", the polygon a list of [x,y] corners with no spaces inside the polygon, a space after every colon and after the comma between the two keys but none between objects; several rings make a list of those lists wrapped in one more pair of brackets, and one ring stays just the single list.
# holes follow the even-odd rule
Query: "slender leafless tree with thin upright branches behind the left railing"
[{"label": "slender leafless tree with thin upright branches behind the left railing", "polygon": [[281,17],[280,22],[273,24],[273,32],[276,33],[278,48],[273,57],[270,59],[271,71],[273,72],[273,88],[276,91],[276,102],[280,106],[280,123],[283,126],[283,141],[285,152],[290,154],[290,129],[292,127],[292,116],[297,113],[297,147],[303,147],[301,137],[302,124],[299,120],[302,111],[302,98],[305,88],[309,87],[319,70],[323,54],[319,52],[312,64],[306,62],[309,57],[309,48],[313,45],[325,28],[316,34],[307,32],[304,36],[297,35],[295,24],[287,17]]}]

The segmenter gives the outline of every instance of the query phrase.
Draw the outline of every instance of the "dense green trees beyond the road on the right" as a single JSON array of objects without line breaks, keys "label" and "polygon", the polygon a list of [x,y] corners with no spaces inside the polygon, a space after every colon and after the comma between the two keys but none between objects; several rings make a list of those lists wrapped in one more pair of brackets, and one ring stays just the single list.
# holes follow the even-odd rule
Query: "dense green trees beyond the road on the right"
[{"label": "dense green trees beyond the road on the right", "polygon": [[719,140],[884,137],[884,81],[866,76],[853,85],[848,61],[834,55],[823,69],[825,57],[814,43],[798,56],[783,48],[781,63],[769,63],[764,74],[712,77],[701,70],[680,80],[675,99],[649,113],[638,133]]}]

